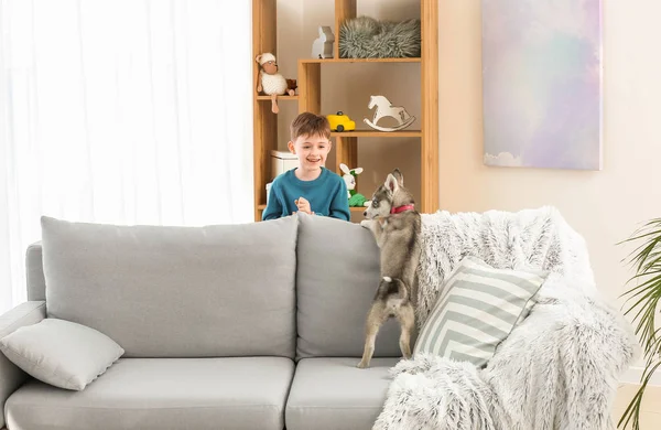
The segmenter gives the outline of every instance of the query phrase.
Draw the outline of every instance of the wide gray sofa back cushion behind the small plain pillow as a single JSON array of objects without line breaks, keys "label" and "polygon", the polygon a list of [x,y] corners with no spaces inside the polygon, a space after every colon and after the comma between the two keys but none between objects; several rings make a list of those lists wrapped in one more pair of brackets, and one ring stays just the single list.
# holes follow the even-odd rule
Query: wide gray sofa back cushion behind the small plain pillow
[{"label": "wide gray sofa back cushion behind the small plain pillow", "polygon": [[43,217],[47,315],[98,330],[127,357],[293,357],[296,225]]}]

